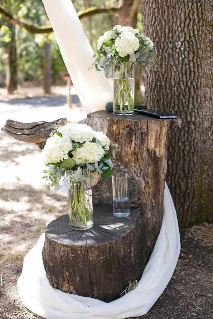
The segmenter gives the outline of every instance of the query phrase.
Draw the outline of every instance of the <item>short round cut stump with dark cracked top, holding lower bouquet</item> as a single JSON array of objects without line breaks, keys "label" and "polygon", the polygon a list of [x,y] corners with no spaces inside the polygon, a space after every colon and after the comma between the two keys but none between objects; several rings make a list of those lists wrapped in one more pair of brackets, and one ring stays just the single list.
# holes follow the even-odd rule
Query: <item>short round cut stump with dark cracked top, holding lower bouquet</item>
[{"label": "short round cut stump with dark cracked top, holding lower bouquet", "polygon": [[42,252],[50,284],[67,293],[109,302],[118,299],[131,279],[146,266],[142,248],[142,216],[132,210],[116,218],[109,207],[94,207],[94,226],[74,231],[68,215],[52,221]]}]

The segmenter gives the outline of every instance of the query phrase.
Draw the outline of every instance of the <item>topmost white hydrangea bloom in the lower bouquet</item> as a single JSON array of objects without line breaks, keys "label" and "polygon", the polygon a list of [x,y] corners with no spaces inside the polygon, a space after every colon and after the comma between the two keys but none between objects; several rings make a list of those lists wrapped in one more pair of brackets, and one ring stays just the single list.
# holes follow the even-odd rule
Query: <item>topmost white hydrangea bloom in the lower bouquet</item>
[{"label": "topmost white hydrangea bloom in the lower bouquet", "polygon": [[67,135],[74,142],[87,142],[92,141],[95,132],[86,124],[80,123],[67,123],[66,125],[57,129],[63,136]]}]

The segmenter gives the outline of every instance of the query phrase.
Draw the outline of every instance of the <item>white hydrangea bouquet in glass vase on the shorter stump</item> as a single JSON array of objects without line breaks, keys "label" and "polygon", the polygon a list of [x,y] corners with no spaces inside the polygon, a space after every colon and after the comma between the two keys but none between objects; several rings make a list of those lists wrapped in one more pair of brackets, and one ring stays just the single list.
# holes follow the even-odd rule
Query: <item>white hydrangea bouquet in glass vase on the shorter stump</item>
[{"label": "white hydrangea bouquet in glass vase on the shorter stump", "polygon": [[[90,173],[97,173],[98,179],[111,177],[113,165],[109,148],[109,138],[86,124],[68,123],[56,128],[47,139],[42,156],[49,169],[42,178],[48,190],[54,187],[67,193],[72,229],[93,226],[90,179],[94,176]],[[113,148],[113,157],[114,154]]]}]

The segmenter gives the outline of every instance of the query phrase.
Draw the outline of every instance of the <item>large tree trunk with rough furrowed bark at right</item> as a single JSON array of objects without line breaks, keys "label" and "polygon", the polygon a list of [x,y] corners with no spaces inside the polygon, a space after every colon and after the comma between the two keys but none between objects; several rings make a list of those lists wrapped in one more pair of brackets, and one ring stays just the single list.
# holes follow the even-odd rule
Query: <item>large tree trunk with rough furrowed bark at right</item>
[{"label": "large tree trunk with rough furrowed bark at right", "polygon": [[141,0],[144,32],[156,46],[145,103],[177,113],[170,132],[167,182],[179,225],[213,221],[213,7],[210,0]]}]

